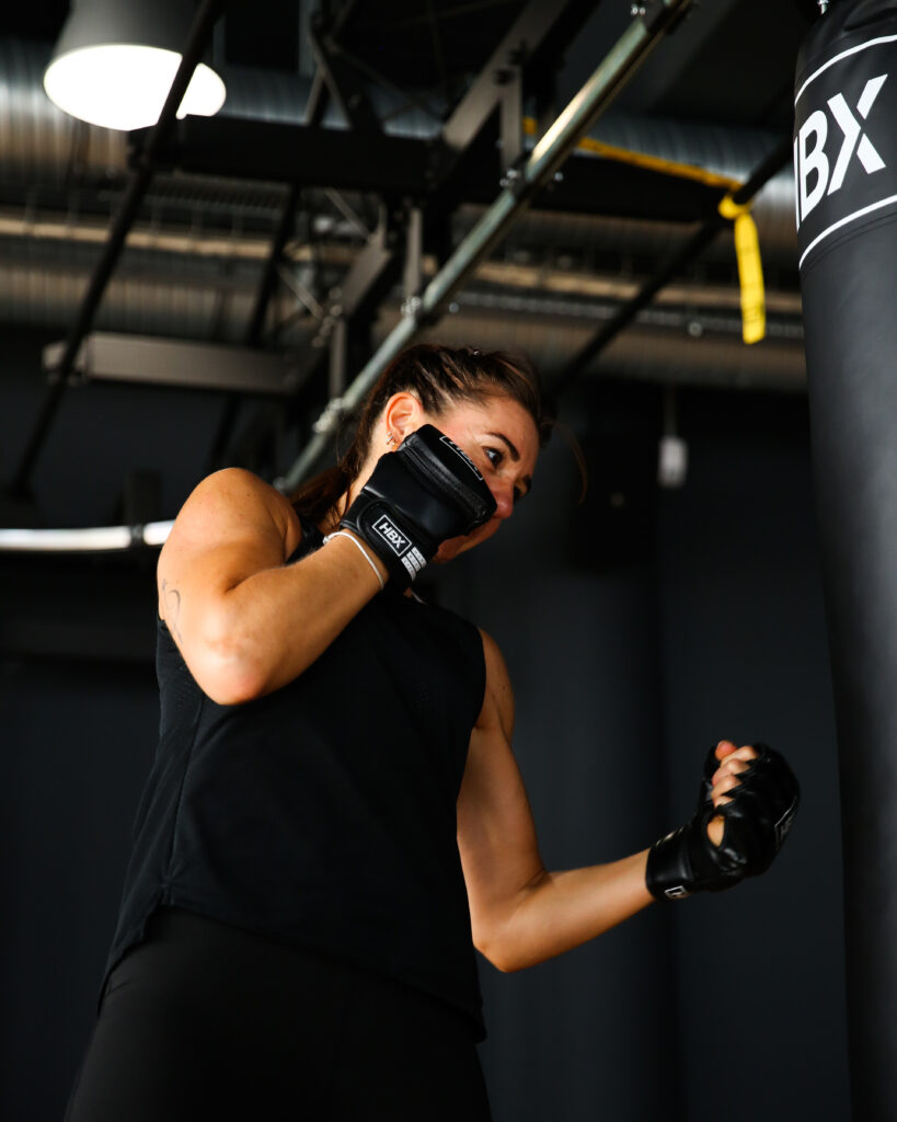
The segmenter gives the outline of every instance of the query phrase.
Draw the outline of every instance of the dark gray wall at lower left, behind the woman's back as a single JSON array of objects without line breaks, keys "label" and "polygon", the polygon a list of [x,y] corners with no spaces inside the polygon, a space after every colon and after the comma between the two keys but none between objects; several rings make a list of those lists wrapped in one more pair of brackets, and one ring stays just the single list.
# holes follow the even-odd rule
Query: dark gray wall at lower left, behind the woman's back
[{"label": "dark gray wall at lower left, behind the woman's back", "polygon": [[63,1115],[157,725],[148,665],[0,662],[4,1119]]}]

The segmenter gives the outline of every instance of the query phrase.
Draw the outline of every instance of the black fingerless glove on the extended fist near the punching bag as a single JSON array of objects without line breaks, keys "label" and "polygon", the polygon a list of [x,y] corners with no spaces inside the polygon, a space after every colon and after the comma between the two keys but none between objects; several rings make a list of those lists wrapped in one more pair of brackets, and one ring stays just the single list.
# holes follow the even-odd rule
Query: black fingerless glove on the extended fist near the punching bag
[{"label": "black fingerless glove on the extended fist near the punching bag", "polygon": [[[720,892],[771,865],[792,827],[801,792],[778,752],[766,744],[753,747],[757,758],[738,773],[738,787],[725,794],[730,801],[719,807],[711,800],[711,780],[723,761],[711,749],[694,817],[655,843],[648,854],[646,883],[657,900]],[[708,825],[718,815],[723,819],[719,846],[708,836]]]}]

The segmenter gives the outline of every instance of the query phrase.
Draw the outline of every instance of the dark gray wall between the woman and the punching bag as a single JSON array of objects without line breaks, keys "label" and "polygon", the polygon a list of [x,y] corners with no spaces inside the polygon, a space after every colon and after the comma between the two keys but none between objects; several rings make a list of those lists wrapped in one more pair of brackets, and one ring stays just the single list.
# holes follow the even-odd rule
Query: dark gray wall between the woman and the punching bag
[{"label": "dark gray wall between the woman and the punching bag", "polygon": [[573,507],[576,469],[556,439],[519,518],[452,577],[453,598],[506,651],[543,855],[555,867],[609,859],[679,825],[721,737],[784,751],[803,808],[758,881],[653,908],[531,972],[484,966],[496,1119],[847,1120],[806,403],[683,392],[688,480],[666,491],[651,484],[658,412],[647,389],[593,390],[567,415],[583,434],[586,503]]}]

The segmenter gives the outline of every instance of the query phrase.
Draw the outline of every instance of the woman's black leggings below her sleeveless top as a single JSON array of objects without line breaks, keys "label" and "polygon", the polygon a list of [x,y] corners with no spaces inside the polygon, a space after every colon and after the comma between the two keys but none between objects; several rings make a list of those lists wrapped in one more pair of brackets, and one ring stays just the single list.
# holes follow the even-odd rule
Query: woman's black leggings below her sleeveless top
[{"label": "woman's black leggings below her sleeveless top", "polygon": [[112,972],[66,1122],[488,1122],[462,1014],[178,909]]}]

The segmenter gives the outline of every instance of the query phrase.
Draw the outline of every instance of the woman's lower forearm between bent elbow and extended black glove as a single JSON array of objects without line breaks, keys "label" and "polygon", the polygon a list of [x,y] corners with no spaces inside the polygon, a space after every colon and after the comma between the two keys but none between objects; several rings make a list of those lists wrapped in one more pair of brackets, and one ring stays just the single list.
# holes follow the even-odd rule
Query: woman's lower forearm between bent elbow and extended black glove
[{"label": "woman's lower forearm between bent elbow and extended black glove", "polygon": [[605,865],[542,872],[493,925],[481,947],[502,971],[518,971],[572,950],[651,902],[647,849]]}]

